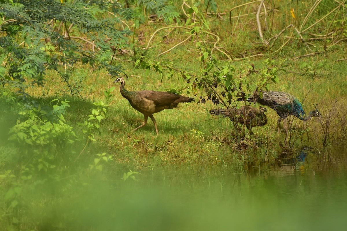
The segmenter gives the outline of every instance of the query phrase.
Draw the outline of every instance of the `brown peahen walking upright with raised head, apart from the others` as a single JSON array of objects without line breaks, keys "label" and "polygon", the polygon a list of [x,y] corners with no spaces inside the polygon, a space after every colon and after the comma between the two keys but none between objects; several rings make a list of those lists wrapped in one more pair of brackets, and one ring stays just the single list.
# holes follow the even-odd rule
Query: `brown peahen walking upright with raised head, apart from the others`
[{"label": "brown peahen walking upright with raised head, apart from the others", "polygon": [[[120,94],[126,98],[130,105],[141,112],[145,121],[135,128],[136,131],[140,127],[143,127],[147,123],[148,117],[150,117],[154,123],[156,134],[158,135],[158,128],[156,126],[156,121],[153,117],[154,113],[160,112],[164,109],[172,109],[177,107],[178,103],[189,103],[195,101],[194,98],[189,98],[185,96],[180,96],[174,93],[162,92],[162,91],[127,91],[124,89],[125,81],[123,78],[119,77],[113,83],[120,82]],[[132,131],[132,132],[133,132]]]}]

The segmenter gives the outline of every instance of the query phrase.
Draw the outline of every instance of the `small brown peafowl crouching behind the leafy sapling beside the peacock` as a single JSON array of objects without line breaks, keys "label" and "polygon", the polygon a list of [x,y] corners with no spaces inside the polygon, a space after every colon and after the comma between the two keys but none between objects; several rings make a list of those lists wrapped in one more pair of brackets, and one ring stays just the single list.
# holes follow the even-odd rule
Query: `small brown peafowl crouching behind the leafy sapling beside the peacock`
[{"label": "small brown peafowl crouching behind the leafy sapling beside the peacock", "polygon": [[245,124],[250,134],[253,134],[252,127],[261,127],[268,123],[268,117],[266,117],[264,112],[266,112],[266,108],[264,107],[259,107],[258,110],[255,107],[246,106],[238,109],[232,107],[228,109],[219,108],[210,110],[211,115],[222,115],[223,117],[229,117],[232,121]]}]

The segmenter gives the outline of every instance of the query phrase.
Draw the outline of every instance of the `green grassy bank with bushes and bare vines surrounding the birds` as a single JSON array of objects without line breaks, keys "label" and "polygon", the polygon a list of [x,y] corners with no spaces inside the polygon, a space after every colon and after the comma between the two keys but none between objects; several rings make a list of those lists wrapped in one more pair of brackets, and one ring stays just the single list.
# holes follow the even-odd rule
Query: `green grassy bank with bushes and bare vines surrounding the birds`
[{"label": "green grassy bank with bushes and bare vines surrounding the birds", "polygon": [[[72,16],[59,19],[56,15],[54,21],[48,17],[40,22],[54,24],[57,33],[81,45],[74,50],[76,57],[69,53],[70,60],[65,51],[71,44],[62,49],[64,53],[52,38],[44,39],[40,33],[36,37],[40,43],[34,37],[29,41],[22,24],[16,27],[11,17],[6,18],[6,4],[15,8],[25,1],[0,3],[1,230],[93,226],[76,222],[85,214],[69,208],[69,203],[93,198],[91,209],[97,210],[98,198],[112,197],[105,194],[110,189],[135,184],[141,179],[139,172],[155,175],[159,174],[156,169],[174,166],[207,177],[219,176],[223,166],[240,173],[248,163],[276,166],[284,135],[277,134],[278,116],[273,110],[266,113],[268,124],[253,128],[254,135],[244,128],[238,132],[229,119],[215,119],[208,113],[212,108],[235,106],[240,83],[245,94],[256,87],[288,92],[303,101],[306,112],[319,105],[321,118],[308,122],[290,118],[285,149],[294,151],[301,145],[318,149],[346,142],[344,1],[261,1],[264,8],[257,5],[260,1],[159,1],[156,5],[153,1],[119,1],[122,5],[117,9],[130,10],[130,16],[128,11],[110,10],[103,1],[100,5],[91,1],[78,10],[92,12],[96,21],[116,19],[103,32],[102,26],[100,30],[77,22],[74,26]],[[68,12],[73,4],[77,3],[62,1],[61,7]],[[131,32],[117,34],[127,27]],[[113,40],[101,37],[111,36],[105,33],[110,28],[116,31]],[[13,56],[15,49],[6,46],[5,38],[10,36],[17,44],[26,42],[17,48],[35,50],[36,46],[37,53],[44,52],[44,71],[35,68],[37,59],[29,59],[41,57],[35,52],[28,52],[28,59]],[[66,63],[47,57],[66,58]],[[151,121],[131,133],[143,122],[143,115],[113,84],[115,75],[123,74],[127,90],[174,91],[206,102],[180,104],[154,114],[158,136]],[[234,88],[229,104],[222,92]],[[220,104],[208,100],[211,97]],[[109,188],[103,191],[107,184]]]}]

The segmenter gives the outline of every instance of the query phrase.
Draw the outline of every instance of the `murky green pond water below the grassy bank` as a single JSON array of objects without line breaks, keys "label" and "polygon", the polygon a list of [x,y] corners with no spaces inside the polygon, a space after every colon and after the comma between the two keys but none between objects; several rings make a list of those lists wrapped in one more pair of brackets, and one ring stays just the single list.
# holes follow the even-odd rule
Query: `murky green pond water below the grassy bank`
[{"label": "murky green pond water below the grassy bank", "polygon": [[72,230],[345,230],[346,154],[303,147],[243,172],[156,168],[82,189],[54,211],[74,211],[63,225]]}]

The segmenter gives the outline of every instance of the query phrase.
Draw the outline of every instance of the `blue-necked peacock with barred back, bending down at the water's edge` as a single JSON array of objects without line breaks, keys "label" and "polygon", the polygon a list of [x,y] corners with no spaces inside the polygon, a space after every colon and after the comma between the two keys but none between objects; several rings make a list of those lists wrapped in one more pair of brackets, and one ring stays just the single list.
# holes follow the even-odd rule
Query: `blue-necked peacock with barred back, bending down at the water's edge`
[{"label": "blue-necked peacock with barred back, bending down at the water's edge", "polygon": [[[280,123],[283,119],[286,119],[289,115],[294,115],[299,119],[306,121],[312,117],[319,117],[321,113],[317,108],[306,114],[300,101],[294,96],[279,91],[261,91],[262,97],[259,95],[258,91],[247,99],[250,102],[258,102],[261,105],[268,106],[275,110],[280,118],[277,121],[277,131],[280,132]],[[243,101],[243,98],[237,98],[238,101]],[[283,126],[286,130],[286,140],[288,136],[288,128],[286,121],[283,122]]]}]

